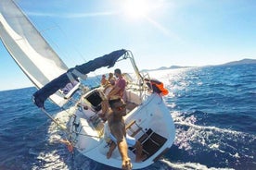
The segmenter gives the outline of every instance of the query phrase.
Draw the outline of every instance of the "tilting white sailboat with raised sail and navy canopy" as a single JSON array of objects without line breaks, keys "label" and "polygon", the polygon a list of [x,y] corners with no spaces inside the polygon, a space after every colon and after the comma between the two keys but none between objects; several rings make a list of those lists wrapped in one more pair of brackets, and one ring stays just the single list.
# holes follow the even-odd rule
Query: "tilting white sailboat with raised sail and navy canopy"
[{"label": "tilting white sailboat with raised sail and navy canopy", "polygon": [[[124,121],[127,134],[139,140],[146,155],[142,162],[135,162],[133,148],[128,149],[134,169],[145,168],[160,159],[173,145],[175,128],[170,110],[159,92],[152,90],[147,73],[136,67],[134,55],[129,50],[117,50],[96,57],[80,66],[69,68],[45,41],[13,0],[0,1],[0,37],[9,55],[38,91],[32,94],[33,103],[52,119],[68,136],[70,148],[101,164],[121,167],[122,158],[116,149],[108,159],[109,140],[106,122],[99,116],[106,94],[102,87],[86,86],[86,75],[100,67],[114,67],[127,60],[134,67],[134,78],[123,75],[127,115]],[[110,72],[110,71],[109,71]],[[151,88],[150,88],[151,86]],[[71,88],[69,88],[71,87]],[[69,91],[64,91],[64,89]],[[49,114],[45,101],[49,99],[66,114],[66,122]]]}]

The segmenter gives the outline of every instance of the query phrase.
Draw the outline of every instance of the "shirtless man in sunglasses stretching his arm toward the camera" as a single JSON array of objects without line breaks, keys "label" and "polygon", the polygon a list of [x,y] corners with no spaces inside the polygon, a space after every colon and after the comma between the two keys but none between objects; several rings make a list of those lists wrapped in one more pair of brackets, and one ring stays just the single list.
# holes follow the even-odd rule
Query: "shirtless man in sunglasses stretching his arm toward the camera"
[{"label": "shirtless man in sunglasses stretching his arm toward the camera", "polygon": [[109,159],[112,152],[118,146],[119,152],[122,156],[122,169],[131,169],[131,160],[128,157],[128,146],[136,149],[136,162],[142,161],[142,146],[138,140],[126,134],[123,115],[126,115],[126,105],[123,103],[121,97],[109,100],[109,106],[112,112],[109,113],[108,123],[110,129],[110,139],[113,141],[110,145],[107,158]]}]

